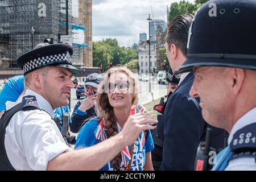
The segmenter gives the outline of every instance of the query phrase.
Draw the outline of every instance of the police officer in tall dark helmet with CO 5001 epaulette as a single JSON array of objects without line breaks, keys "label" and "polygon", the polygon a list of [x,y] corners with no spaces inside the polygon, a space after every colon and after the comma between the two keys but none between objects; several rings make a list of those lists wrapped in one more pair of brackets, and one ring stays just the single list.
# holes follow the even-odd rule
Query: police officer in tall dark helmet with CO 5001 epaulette
[{"label": "police officer in tall dark helmet with CO 5001 epaulette", "polygon": [[203,118],[229,132],[215,170],[256,170],[256,1],[216,0],[197,11],[188,57],[176,73],[195,75],[190,94]]}]

